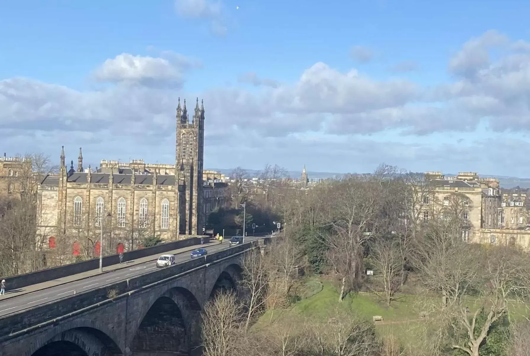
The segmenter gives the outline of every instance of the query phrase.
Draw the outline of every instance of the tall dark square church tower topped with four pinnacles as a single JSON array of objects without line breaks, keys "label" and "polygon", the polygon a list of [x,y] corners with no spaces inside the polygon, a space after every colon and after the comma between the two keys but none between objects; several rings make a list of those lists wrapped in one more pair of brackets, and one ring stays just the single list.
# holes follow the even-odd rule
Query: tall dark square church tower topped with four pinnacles
[{"label": "tall dark square church tower topped with four pinnacles", "polygon": [[204,162],[204,104],[195,105],[189,121],[186,101],[176,109],[175,185],[183,185],[179,199],[179,230],[184,235],[202,234],[202,170]]}]

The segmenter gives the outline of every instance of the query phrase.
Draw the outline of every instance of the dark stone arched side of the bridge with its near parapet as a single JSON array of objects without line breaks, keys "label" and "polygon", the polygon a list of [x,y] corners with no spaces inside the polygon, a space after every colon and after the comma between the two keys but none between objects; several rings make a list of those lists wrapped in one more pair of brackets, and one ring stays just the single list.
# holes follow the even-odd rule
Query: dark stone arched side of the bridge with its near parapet
[{"label": "dark stone arched side of the bridge with its near parapet", "polygon": [[200,354],[202,306],[237,290],[256,242],[0,319],[0,356]]}]

